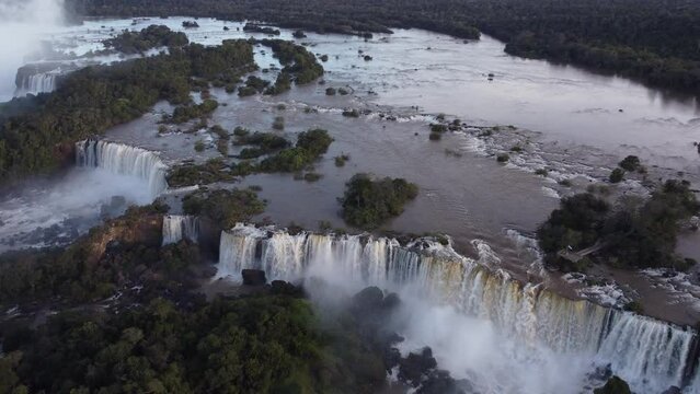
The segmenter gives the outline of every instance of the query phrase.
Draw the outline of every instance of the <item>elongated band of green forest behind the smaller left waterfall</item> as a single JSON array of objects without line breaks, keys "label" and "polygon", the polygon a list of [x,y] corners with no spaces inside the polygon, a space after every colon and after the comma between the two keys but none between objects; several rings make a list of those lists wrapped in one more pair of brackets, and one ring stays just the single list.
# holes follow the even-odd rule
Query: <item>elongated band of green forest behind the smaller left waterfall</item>
[{"label": "elongated band of green forest behind the smaller left waterfall", "polygon": [[[141,116],[159,100],[188,103],[195,78],[238,79],[255,67],[250,43],[227,40],[76,71],[50,94],[0,107],[0,182],[72,162],[74,142]],[[196,106],[197,113],[215,107],[209,104]]]}]

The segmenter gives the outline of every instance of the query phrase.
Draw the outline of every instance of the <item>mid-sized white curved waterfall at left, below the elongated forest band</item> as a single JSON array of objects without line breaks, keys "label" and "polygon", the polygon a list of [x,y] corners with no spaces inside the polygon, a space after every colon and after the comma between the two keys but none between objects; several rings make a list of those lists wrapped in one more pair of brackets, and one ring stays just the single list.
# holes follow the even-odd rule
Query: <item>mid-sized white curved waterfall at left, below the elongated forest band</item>
[{"label": "mid-sized white curved waterfall at left, below the elongated forest band", "polygon": [[168,188],[168,166],[158,154],[124,143],[85,140],[76,143],[78,166],[100,167],[119,175],[139,177],[148,182],[151,196],[156,198]]}]

